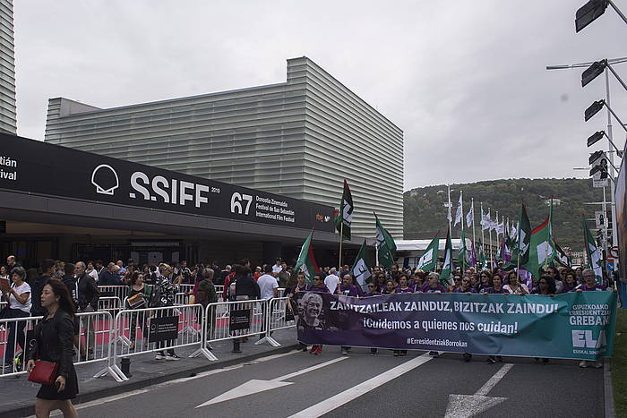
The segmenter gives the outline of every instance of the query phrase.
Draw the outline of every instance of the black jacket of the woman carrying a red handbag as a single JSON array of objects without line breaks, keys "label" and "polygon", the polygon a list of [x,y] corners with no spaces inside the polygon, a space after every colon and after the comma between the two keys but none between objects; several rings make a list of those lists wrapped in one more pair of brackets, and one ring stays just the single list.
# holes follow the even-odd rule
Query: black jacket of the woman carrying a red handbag
[{"label": "black jacket of the woman carrying a red handbag", "polygon": [[72,363],[74,346],[72,315],[59,309],[51,319],[40,320],[35,328],[35,338],[37,345],[34,350],[30,350],[31,360],[57,363],[57,373],[66,380],[71,373],[75,373]]}]

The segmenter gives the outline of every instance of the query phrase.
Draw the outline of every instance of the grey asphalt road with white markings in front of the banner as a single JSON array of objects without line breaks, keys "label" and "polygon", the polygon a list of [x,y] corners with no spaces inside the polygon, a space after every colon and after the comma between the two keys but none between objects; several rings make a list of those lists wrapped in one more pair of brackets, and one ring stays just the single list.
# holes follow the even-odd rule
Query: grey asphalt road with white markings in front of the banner
[{"label": "grey asphalt road with white markings in front of the banner", "polygon": [[393,357],[365,349],[341,356],[339,347],[325,347],[318,356],[277,354],[77,406],[93,418],[604,415],[602,369],[503,360],[488,365],[485,356],[464,363],[459,354]]}]

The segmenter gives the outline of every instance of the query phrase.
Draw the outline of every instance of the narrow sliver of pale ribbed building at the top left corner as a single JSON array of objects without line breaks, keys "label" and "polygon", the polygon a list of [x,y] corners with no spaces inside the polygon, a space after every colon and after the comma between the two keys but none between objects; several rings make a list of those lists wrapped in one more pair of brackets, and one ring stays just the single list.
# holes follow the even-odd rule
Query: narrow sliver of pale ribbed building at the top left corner
[{"label": "narrow sliver of pale ribbed building at the top left corner", "polygon": [[0,0],[0,132],[17,132],[13,0]]}]

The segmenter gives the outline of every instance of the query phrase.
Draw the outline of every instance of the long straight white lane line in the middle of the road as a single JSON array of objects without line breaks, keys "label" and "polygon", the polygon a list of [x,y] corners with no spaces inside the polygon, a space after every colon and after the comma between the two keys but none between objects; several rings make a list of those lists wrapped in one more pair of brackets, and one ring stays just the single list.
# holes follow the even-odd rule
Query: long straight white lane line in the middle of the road
[{"label": "long straight white lane line in the middle of the road", "polygon": [[416,369],[418,366],[425,364],[431,359],[432,357],[430,357],[429,354],[422,354],[414,359],[409,360],[407,363],[399,364],[389,371],[384,371],[381,374],[374,376],[374,378],[372,379],[365,380],[364,382],[352,388],[348,388],[338,395],[325,399],[316,405],[312,405],[299,413],[291,415],[289,418],[310,418],[327,414],[332,410],[338,408],[339,406],[344,405],[352,400],[355,400],[357,397],[364,395],[370,390],[378,388],[382,384],[387,383],[390,380],[396,379],[399,376],[407,373],[408,371]]}]

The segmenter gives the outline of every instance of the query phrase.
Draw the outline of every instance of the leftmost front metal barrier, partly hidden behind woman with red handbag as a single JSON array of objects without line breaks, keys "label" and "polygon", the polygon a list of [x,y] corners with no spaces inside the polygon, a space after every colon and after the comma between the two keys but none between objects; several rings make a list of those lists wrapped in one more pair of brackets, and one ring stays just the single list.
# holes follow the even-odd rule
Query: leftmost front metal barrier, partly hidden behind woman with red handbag
[{"label": "leftmost front metal barrier, partly hidden behind woman with red handbag", "polygon": [[[79,321],[79,333],[74,335],[73,345],[75,350],[74,364],[107,362],[104,369],[96,373],[94,377],[110,374],[115,380],[119,380],[116,371],[111,365],[111,341],[113,338],[113,317],[107,311],[76,313]],[[30,340],[34,336],[34,328],[43,317],[26,317],[0,320],[5,330],[0,331],[0,345],[4,345],[4,363],[10,363],[0,371],[0,377],[17,376],[25,374],[24,364],[28,361]],[[11,329],[13,338],[9,339]],[[84,338],[84,340],[83,340]],[[9,344],[12,343],[12,344]],[[13,345],[13,348],[12,346]],[[18,351],[18,345],[21,350]],[[9,353],[12,352],[12,353]],[[8,361],[8,362],[7,362]]]}]

